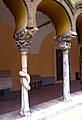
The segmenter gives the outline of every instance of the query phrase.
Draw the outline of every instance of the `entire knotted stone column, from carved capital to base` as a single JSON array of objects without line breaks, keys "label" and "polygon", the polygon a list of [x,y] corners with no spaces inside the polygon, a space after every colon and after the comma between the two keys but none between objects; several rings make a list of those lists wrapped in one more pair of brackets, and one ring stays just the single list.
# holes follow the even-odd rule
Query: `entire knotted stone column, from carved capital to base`
[{"label": "entire knotted stone column, from carved capital to base", "polygon": [[30,90],[30,76],[27,72],[27,58],[28,52],[30,50],[30,45],[32,43],[31,38],[36,33],[38,29],[32,28],[27,29],[24,28],[19,33],[15,34],[16,38],[16,45],[21,52],[21,66],[22,70],[19,72],[20,75],[20,82],[21,82],[21,116],[29,116],[30,115],[30,108],[29,108],[29,98],[28,98],[28,91]]}]

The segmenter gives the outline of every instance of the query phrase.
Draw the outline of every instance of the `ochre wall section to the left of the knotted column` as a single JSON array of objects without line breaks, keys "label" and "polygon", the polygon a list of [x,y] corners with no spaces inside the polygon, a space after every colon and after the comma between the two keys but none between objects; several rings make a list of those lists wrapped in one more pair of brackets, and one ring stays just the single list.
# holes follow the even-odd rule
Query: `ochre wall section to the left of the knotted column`
[{"label": "ochre wall section to the left of the knotted column", "polygon": [[7,24],[0,24],[0,70],[9,70],[13,76],[13,88],[20,87],[18,72],[20,66],[20,53],[15,46],[13,38],[13,27]]}]

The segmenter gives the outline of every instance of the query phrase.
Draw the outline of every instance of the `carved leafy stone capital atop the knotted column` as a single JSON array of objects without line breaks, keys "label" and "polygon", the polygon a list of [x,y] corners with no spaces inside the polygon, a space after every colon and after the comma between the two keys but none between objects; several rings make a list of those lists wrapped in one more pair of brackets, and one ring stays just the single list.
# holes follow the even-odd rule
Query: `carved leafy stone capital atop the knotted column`
[{"label": "carved leafy stone capital atop the knotted column", "polygon": [[32,43],[33,35],[38,31],[38,28],[24,28],[15,34],[16,45],[21,52],[28,52]]}]

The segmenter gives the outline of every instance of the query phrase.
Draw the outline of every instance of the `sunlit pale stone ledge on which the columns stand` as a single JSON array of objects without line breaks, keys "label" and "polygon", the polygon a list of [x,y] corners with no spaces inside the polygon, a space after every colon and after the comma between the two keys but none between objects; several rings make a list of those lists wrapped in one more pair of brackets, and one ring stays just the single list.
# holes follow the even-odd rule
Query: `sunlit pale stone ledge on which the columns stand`
[{"label": "sunlit pale stone ledge on which the columns stand", "polygon": [[29,117],[20,117],[18,112],[0,115],[0,120],[82,120],[82,91],[71,94],[70,101],[58,98],[34,105]]}]

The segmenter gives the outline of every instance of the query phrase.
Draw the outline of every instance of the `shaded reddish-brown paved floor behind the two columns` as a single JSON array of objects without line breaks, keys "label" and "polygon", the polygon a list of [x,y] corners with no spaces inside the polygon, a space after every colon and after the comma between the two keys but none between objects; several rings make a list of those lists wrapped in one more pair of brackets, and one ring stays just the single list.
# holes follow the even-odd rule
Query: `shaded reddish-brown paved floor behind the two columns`
[{"label": "shaded reddish-brown paved floor behind the two columns", "polygon": [[[71,92],[73,93],[79,90],[81,90],[79,81],[72,82]],[[62,96],[62,84],[55,84],[40,89],[31,90],[29,91],[30,107],[54,100],[60,96]],[[21,101],[20,98],[20,91],[13,92],[9,97],[5,98],[0,95],[0,114],[19,110]]]}]

